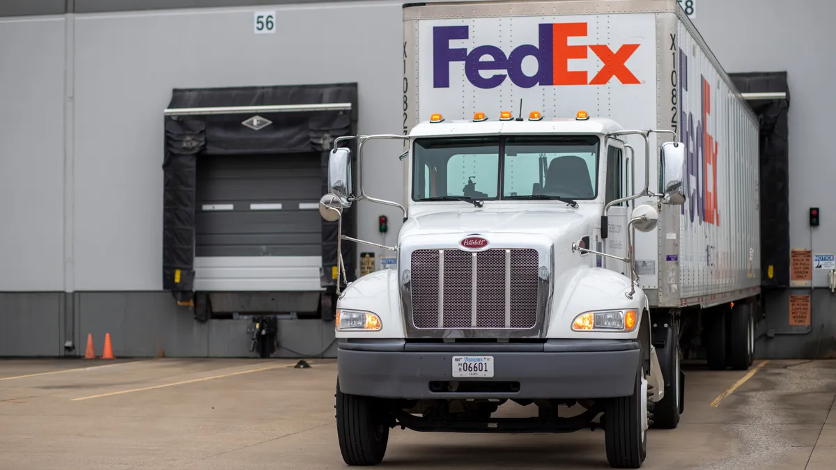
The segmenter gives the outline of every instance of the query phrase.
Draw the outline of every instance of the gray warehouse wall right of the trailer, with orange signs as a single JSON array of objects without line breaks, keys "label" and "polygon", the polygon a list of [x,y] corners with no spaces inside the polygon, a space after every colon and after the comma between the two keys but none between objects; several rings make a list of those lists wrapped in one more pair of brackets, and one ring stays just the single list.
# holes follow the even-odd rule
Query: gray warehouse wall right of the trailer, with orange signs
[{"label": "gray warehouse wall right of the trailer, with orange signs", "polygon": [[[787,71],[789,107],[789,229],[791,248],[836,253],[836,202],[833,187],[836,159],[823,141],[833,126],[833,76],[836,42],[829,18],[836,3],[818,0],[698,0],[696,28],[728,72]],[[769,191],[762,187],[761,191]],[[819,207],[820,226],[808,225],[809,207]],[[789,253],[787,253],[789,256]],[[825,270],[814,270],[811,325],[790,326],[789,295],[811,289],[769,294],[767,322],[758,333],[761,357],[836,357],[836,294]],[[775,334],[770,338],[768,333]]]}]

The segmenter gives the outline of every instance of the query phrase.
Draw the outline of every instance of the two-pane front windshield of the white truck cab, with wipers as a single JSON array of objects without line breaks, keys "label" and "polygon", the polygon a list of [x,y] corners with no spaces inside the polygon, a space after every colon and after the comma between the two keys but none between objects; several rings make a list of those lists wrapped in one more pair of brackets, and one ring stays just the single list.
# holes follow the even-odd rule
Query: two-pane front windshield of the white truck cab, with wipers
[{"label": "two-pane front windshield of the white truck cab, with wipers", "polygon": [[415,201],[598,195],[594,135],[425,138],[415,140],[413,155]]}]

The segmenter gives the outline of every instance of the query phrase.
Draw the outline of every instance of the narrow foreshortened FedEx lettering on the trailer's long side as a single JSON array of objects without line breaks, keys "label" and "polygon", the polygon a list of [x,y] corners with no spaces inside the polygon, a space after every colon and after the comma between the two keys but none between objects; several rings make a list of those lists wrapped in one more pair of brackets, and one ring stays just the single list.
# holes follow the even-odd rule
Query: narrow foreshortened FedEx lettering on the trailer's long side
[{"label": "narrow foreshortened FedEx lettering on the trailer's long side", "polygon": [[[696,132],[694,129],[694,113],[686,110],[688,103],[688,54],[679,49],[680,80],[679,96],[681,97],[681,135],[686,146],[688,158],[688,189],[686,196],[690,200],[688,212],[691,222],[699,216],[703,222],[720,225],[720,212],[717,207],[717,154],[719,143],[708,132],[708,120],[711,118],[711,84],[700,75],[700,115],[696,118]],[[712,118],[713,119],[713,118]],[[711,167],[711,168],[709,168]],[[711,176],[711,182],[709,182]],[[685,207],[682,206],[682,214]]]}]

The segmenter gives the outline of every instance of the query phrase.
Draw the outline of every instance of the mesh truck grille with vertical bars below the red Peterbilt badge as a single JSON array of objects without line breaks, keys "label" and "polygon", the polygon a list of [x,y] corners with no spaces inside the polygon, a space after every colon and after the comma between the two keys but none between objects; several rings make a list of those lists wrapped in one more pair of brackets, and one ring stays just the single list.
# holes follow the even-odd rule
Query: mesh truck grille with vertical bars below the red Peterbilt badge
[{"label": "mesh truck grille with vertical bars below the red Peterbilt badge", "polygon": [[411,262],[415,328],[530,329],[537,325],[537,250],[415,250]]}]

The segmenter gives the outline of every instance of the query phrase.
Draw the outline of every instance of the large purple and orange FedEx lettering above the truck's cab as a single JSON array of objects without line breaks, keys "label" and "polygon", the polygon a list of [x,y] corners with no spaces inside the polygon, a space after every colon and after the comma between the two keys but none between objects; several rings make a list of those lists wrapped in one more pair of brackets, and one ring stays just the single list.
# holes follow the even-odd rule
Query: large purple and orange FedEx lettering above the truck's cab
[{"label": "large purple and orange FedEx lettering above the truck's cab", "polygon": [[[505,78],[520,88],[534,85],[585,85],[607,84],[617,78],[622,84],[640,84],[627,67],[627,59],[639,49],[640,44],[624,44],[615,52],[606,45],[569,45],[568,38],[587,35],[587,23],[544,23],[539,25],[539,44],[523,44],[505,55],[496,46],[477,46],[470,53],[464,48],[451,48],[451,40],[469,38],[467,26],[436,26],[432,33],[433,88],[450,86],[450,64],[464,62],[467,80],[482,89],[496,88]],[[589,80],[586,70],[569,70],[569,59],[587,59],[589,49],[604,67]],[[482,61],[488,56],[490,60]],[[537,59],[538,71],[529,76],[523,73],[523,59]],[[483,77],[482,70],[501,70],[507,74]]]}]

